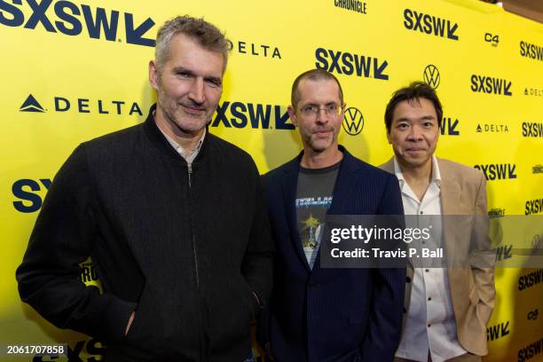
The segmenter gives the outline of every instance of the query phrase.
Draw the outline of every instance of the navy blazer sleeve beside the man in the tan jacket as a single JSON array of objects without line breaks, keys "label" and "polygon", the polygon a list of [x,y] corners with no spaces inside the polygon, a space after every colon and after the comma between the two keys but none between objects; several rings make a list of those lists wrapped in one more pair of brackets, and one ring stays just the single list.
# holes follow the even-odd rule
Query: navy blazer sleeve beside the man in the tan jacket
[{"label": "navy blazer sleeve beside the man in the tan jacket", "polygon": [[[389,177],[379,209],[381,215],[404,215],[397,178]],[[402,330],[405,267],[374,268],[374,293],[366,336],[360,348],[362,361],[394,359]]]}]

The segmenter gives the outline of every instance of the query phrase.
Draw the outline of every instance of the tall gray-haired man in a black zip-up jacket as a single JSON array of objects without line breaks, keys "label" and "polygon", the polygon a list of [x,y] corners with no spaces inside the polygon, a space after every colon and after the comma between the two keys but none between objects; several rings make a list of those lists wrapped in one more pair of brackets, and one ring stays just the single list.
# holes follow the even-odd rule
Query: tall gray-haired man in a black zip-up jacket
[{"label": "tall gray-haired man in a black zip-up jacket", "polygon": [[[248,153],[209,133],[228,41],[188,16],[159,30],[146,122],[59,169],[17,271],[21,299],[110,360],[240,361],[271,293],[272,242]],[[91,256],[101,290],[78,279]]]}]

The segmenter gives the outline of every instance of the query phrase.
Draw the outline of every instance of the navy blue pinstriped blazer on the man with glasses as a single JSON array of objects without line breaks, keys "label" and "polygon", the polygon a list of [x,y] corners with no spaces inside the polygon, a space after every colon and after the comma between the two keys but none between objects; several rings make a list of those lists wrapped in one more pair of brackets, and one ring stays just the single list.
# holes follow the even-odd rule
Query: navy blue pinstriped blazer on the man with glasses
[{"label": "navy blue pinstriped blazer on the man with glasses", "polygon": [[[328,215],[403,215],[397,177],[342,146]],[[259,326],[261,342],[283,361],[392,361],[400,339],[405,268],[310,269],[296,227],[300,153],[264,175],[276,242],[274,287]]]}]

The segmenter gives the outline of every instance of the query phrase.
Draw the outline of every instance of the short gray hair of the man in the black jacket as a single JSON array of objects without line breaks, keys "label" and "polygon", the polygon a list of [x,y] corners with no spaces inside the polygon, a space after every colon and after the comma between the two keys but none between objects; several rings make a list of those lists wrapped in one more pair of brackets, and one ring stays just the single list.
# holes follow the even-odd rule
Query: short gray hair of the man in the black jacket
[{"label": "short gray hair of the man in the black jacket", "polygon": [[215,25],[203,20],[203,18],[193,18],[188,15],[177,16],[174,19],[168,20],[159,29],[154,49],[154,58],[159,72],[161,71],[161,67],[169,59],[169,43],[171,38],[177,34],[187,35],[200,44],[202,48],[220,53],[224,59],[224,73],[228,61],[228,51],[231,49],[231,45],[224,36],[224,32],[216,28]]}]

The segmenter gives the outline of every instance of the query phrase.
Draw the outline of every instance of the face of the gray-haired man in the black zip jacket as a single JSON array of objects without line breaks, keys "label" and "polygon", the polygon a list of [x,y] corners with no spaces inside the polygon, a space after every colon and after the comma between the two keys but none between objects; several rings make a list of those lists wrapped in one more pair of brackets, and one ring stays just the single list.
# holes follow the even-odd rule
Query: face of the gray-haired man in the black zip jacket
[{"label": "face of the gray-haired man in the black zip jacket", "polygon": [[202,131],[221,98],[223,69],[221,53],[202,48],[189,36],[173,35],[164,65],[157,69],[149,63],[149,80],[158,92],[156,122],[184,133]]}]

